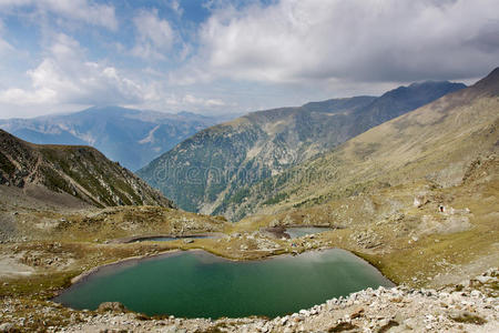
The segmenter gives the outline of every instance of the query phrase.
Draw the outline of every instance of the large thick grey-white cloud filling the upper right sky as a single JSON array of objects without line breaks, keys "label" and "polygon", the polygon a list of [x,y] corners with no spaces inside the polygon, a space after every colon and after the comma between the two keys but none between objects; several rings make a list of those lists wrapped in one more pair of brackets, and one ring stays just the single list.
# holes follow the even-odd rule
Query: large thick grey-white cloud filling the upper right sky
[{"label": "large thick grey-white cloud filling the upper right sky", "polygon": [[281,0],[224,8],[175,80],[408,82],[498,65],[497,0]]}]

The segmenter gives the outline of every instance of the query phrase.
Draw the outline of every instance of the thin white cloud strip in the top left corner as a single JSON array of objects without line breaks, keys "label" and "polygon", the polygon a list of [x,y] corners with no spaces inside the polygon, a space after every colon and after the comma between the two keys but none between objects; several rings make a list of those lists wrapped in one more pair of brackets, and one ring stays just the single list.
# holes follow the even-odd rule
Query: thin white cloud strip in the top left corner
[{"label": "thin white cloud strip in the top left corner", "polygon": [[42,12],[52,12],[67,19],[104,27],[110,30],[118,29],[114,7],[95,3],[91,0],[0,0],[0,9],[27,6],[34,7]]}]

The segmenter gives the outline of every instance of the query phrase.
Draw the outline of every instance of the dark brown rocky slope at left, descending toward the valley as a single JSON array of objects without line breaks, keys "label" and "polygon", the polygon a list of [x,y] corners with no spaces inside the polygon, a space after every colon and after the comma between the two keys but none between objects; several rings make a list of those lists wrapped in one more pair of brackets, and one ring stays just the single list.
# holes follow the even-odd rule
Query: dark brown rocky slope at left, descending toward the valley
[{"label": "dark brown rocky slope at left, descending toward the valley", "polygon": [[[95,206],[173,206],[159,191],[98,150],[38,145],[0,130],[0,184],[65,193]],[[45,194],[43,194],[45,195]]]}]

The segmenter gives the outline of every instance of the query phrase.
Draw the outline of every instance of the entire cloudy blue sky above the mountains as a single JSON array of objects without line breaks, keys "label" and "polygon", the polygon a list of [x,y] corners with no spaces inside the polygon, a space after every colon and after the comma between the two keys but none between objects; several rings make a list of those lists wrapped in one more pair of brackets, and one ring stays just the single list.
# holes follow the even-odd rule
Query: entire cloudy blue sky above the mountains
[{"label": "entire cloudy blue sky above the mountains", "polygon": [[497,0],[0,0],[0,118],[91,105],[241,113],[472,83]]}]

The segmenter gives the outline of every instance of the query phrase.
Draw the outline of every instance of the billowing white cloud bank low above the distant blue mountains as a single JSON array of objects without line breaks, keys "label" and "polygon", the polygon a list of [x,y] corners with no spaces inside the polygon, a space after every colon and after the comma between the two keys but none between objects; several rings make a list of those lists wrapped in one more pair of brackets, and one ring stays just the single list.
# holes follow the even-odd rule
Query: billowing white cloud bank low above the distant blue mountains
[{"label": "billowing white cloud bank low above the distant blue mountains", "polygon": [[[217,98],[172,92],[155,71],[132,79],[113,65],[89,61],[86,50],[73,38],[59,33],[45,57],[26,74],[29,87],[0,90],[0,117],[39,115],[88,105],[126,105],[160,111],[213,111],[225,107]],[[138,79],[140,78],[140,79]],[[170,90],[170,92],[169,92]],[[174,88],[173,88],[174,90]],[[19,110],[12,112],[12,110]]]}]

